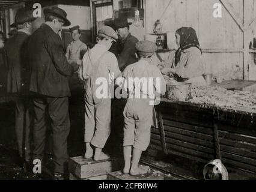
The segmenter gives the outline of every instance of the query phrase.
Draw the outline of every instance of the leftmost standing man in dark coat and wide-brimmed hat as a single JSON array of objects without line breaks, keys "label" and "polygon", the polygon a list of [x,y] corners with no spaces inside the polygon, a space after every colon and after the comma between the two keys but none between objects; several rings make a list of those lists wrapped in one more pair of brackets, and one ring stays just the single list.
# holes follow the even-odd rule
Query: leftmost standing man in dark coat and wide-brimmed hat
[{"label": "leftmost standing man in dark coat and wide-brimmed hat", "polygon": [[[21,9],[15,16],[12,28],[17,34],[5,44],[8,64],[7,92],[14,96],[16,103],[16,136],[23,166],[31,159],[30,139],[31,116],[28,97],[28,39],[32,32],[32,14]],[[25,144],[23,144],[25,143]]]}]

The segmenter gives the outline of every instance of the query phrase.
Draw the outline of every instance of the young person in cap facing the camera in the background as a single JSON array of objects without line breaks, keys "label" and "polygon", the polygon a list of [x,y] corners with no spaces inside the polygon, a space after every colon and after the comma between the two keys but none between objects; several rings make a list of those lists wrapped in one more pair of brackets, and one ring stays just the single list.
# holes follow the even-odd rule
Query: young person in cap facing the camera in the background
[{"label": "young person in cap facing the camera in the background", "polygon": [[82,43],[82,41],[80,40],[81,31],[78,25],[73,26],[73,28],[70,28],[70,32],[73,41],[67,47],[66,57],[70,63],[76,62],[78,65],[81,65],[82,58],[85,52],[87,52],[87,45]]}]

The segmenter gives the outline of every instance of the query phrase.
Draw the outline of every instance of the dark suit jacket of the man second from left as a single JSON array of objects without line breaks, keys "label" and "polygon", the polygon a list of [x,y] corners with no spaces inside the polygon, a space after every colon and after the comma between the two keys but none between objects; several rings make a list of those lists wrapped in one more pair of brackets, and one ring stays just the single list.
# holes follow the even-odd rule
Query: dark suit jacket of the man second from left
[{"label": "dark suit jacket of the man second from left", "polygon": [[67,77],[73,75],[73,67],[66,59],[59,35],[43,24],[32,34],[28,50],[31,65],[29,90],[50,97],[69,97]]}]

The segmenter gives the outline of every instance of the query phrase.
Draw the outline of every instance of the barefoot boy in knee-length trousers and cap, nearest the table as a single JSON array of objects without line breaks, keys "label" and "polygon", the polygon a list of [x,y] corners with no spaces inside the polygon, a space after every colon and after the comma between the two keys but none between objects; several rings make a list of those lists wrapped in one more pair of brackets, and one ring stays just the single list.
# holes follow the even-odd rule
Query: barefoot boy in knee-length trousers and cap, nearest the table
[{"label": "barefoot boy in knee-length trousers and cap, nearest the table", "polygon": [[[147,171],[138,167],[139,159],[141,158],[142,151],[145,151],[150,143],[150,127],[151,119],[153,118],[153,106],[150,104],[152,101],[151,94],[165,94],[166,82],[159,68],[155,65],[150,65],[149,61],[151,56],[156,52],[156,44],[151,41],[139,41],[136,44],[137,55],[139,61],[135,64],[129,65],[123,73],[124,79],[128,81],[130,78],[154,79],[154,85],[142,83],[139,86],[140,97],[135,98],[135,84],[129,84],[129,98],[124,108],[124,169],[123,172],[130,175],[141,175]],[[160,78],[160,90],[156,85],[156,78]],[[147,86],[147,87],[144,87]],[[153,86],[153,93],[148,89]],[[132,164],[131,164],[131,154]]]}]

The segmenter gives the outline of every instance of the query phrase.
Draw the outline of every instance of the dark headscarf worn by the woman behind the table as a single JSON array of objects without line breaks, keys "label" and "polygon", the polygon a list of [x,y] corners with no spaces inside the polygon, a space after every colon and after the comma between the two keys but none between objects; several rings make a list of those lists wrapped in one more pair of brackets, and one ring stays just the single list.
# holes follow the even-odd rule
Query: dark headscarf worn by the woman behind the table
[{"label": "dark headscarf worn by the woman behind the table", "polygon": [[176,34],[180,35],[180,48],[175,53],[175,66],[180,62],[181,52],[185,49],[197,47],[202,53],[195,29],[183,27],[178,29]]}]

